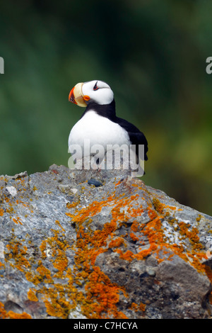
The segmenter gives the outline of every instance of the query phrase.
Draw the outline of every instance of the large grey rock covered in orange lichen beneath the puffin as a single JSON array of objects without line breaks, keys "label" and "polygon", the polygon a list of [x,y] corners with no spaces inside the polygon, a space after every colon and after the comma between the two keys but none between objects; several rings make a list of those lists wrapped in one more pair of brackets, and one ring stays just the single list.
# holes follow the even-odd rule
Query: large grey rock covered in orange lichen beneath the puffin
[{"label": "large grey rock covered in orange lichen beneath the puffin", "polygon": [[0,176],[0,318],[211,318],[211,222],[126,170]]}]

